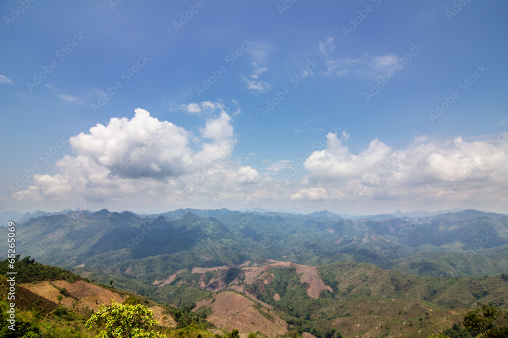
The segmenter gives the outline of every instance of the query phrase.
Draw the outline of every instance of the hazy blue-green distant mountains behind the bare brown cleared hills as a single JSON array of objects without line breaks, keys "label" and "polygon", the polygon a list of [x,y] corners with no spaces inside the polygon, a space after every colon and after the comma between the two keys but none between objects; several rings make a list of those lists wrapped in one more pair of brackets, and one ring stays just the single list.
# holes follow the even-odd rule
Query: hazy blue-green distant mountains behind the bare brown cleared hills
[{"label": "hazy blue-green distant mountains behind the bare brown cleared hills", "polygon": [[16,250],[46,264],[147,280],[182,268],[264,259],[371,262],[422,276],[484,276],[508,270],[507,224],[508,215],[477,210],[352,220],[326,213],[179,209],[148,216],[103,209],[25,220],[17,227]]}]

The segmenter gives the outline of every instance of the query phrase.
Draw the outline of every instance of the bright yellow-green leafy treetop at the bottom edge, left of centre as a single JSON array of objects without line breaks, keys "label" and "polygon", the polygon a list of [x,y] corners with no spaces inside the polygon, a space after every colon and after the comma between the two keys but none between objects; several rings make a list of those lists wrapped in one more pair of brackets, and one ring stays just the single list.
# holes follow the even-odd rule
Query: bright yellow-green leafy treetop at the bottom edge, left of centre
[{"label": "bright yellow-green leafy treetop at the bottom edge, left of centre", "polygon": [[86,322],[86,327],[97,332],[97,338],[162,338],[161,333],[148,330],[158,324],[153,312],[141,304],[101,305]]}]

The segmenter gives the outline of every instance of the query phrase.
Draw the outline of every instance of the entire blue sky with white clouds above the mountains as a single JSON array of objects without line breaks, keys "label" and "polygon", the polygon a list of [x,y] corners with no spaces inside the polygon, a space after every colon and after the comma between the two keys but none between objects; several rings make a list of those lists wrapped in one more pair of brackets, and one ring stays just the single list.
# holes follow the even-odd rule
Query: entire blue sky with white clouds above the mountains
[{"label": "entire blue sky with white clouds above the mountains", "polygon": [[506,212],[506,2],[0,13],[2,212]]}]

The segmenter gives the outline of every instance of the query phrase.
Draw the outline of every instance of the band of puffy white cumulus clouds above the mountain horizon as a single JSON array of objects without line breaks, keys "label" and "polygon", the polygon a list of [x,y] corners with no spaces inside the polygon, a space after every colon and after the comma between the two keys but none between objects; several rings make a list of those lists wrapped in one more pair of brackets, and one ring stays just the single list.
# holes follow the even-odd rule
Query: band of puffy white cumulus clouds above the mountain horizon
[{"label": "band of puffy white cumulus clouds above the mountain horizon", "polygon": [[347,146],[349,134],[330,132],[326,147],[303,164],[280,159],[252,168],[231,159],[236,138],[224,104],[201,102],[183,108],[204,117],[199,135],[138,108],[131,120],[112,118],[106,126],[98,124],[71,137],[75,155],[57,161],[59,172],[35,175],[33,185],[12,199],[167,206],[206,201],[227,207],[340,204],[407,195],[415,195],[409,199],[414,204],[484,205],[507,198],[502,185],[495,185],[508,181],[508,142],[502,131],[497,139],[476,141],[420,136],[403,149],[373,139],[358,154]]}]

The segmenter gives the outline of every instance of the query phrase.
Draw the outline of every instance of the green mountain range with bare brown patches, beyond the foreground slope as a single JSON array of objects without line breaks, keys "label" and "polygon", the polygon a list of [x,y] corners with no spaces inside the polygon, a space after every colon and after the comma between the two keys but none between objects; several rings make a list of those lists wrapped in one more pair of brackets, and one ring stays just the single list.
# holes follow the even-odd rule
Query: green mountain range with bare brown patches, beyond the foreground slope
[{"label": "green mountain range with bare brown patches, beyond the foreground slope", "polygon": [[192,309],[222,332],[424,337],[508,299],[505,214],[65,211],[18,221],[16,253]]}]

